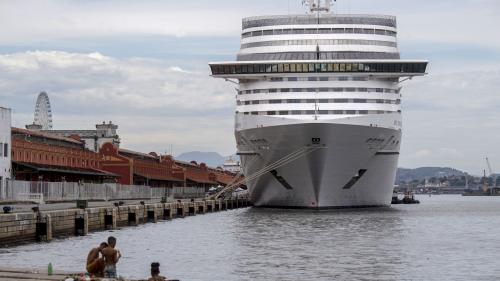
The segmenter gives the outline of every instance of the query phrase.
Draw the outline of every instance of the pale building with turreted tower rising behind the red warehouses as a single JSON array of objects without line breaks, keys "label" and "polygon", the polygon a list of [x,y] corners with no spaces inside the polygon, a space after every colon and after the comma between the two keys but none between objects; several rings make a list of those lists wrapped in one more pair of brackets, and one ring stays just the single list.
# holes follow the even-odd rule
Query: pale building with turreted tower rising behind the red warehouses
[{"label": "pale building with turreted tower rising behind the red warehouses", "polygon": [[85,142],[85,147],[96,153],[99,152],[102,145],[105,143],[112,143],[113,145],[120,145],[120,137],[117,134],[118,125],[109,121],[108,123],[95,125],[95,130],[42,130],[44,133],[54,134],[60,137],[75,137]]}]

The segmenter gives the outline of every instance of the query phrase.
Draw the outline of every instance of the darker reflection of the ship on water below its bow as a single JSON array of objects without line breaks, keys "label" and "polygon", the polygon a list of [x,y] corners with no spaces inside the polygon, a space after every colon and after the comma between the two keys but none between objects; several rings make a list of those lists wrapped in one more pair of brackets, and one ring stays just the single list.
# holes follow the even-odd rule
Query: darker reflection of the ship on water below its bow
[{"label": "darker reflection of the ship on water below its bow", "polygon": [[302,211],[251,209],[237,228],[241,280],[399,276],[404,224],[392,208]]}]

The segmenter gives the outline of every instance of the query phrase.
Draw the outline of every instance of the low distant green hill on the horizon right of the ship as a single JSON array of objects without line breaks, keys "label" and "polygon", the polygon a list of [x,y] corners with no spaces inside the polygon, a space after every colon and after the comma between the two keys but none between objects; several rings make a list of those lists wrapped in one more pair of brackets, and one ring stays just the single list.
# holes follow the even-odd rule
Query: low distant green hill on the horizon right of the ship
[{"label": "low distant green hill on the horizon right of the ship", "polygon": [[399,168],[396,174],[396,183],[424,180],[426,178],[442,178],[450,176],[464,176],[466,173],[447,167],[421,167],[416,169]]}]

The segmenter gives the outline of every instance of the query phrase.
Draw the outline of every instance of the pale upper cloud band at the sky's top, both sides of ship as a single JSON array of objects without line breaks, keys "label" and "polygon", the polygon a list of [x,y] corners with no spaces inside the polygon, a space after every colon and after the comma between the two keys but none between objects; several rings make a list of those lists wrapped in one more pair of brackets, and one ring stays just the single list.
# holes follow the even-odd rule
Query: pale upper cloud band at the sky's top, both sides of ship
[{"label": "pale upper cloud band at the sky's top, both sides of ship", "polygon": [[[299,0],[280,1],[2,1],[0,45],[117,35],[238,36],[241,18],[264,14],[303,14]],[[352,2],[352,3],[351,3]],[[340,13],[398,16],[402,41],[500,47],[494,36],[496,0],[338,1]],[[20,18],[29,19],[20,21]],[[429,44],[430,46],[431,44]]]}]

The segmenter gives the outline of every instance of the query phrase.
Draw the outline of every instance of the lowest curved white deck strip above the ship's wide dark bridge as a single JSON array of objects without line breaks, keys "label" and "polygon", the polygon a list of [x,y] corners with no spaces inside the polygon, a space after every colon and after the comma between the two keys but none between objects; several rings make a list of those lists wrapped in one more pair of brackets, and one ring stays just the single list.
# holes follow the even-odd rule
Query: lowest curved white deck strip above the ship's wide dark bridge
[{"label": "lowest curved white deck strip above the ship's wide dark bridge", "polygon": [[307,39],[307,40],[276,40],[241,44],[242,49],[265,46],[298,46],[298,45],[372,45],[397,47],[396,42],[361,39]]}]

